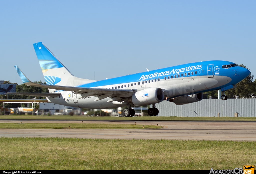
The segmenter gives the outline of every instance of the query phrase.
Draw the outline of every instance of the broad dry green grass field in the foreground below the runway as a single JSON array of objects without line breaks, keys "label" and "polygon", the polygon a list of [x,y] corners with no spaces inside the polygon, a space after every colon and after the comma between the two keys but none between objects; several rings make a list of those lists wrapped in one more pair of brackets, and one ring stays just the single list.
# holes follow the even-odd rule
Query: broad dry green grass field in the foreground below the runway
[{"label": "broad dry green grass field in the foreground below the runway", "polygon": [[0,138],[0,170],[210,170],[256,165],[256,143]]}]

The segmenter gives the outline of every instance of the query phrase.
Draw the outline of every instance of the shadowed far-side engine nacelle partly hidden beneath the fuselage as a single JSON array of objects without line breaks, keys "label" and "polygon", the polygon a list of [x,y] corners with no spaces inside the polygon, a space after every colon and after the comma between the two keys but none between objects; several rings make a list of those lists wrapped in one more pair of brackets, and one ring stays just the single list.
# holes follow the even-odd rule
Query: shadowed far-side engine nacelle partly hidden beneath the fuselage
[{"label": "shadowed far-side engine nacelle partly hidden beneath the fuselage", "polygon": [[184,105],[187,103],[194,103],[197,101],[201,101],[204,97],[203,93],[198,93],[194,95],[189,95],[189,96],[182,96],[182,97],[177,97],[175,99],[170,99],[170,102],[174,102],[176,105]]}]

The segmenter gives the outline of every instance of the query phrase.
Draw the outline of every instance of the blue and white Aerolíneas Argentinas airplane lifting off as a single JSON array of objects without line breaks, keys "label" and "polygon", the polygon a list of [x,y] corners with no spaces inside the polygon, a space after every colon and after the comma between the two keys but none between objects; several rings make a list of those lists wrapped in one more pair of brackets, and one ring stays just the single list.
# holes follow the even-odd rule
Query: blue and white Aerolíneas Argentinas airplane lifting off
[{"label": "blue and white Aerol\u00edneas Argentinas airplane lifting off", "polygon": [[164,100],[176,105],[198,102],[203,92],[233,89],[250,71],[229,61],[202,61],[156,69],[105,80],[82,79],[68,69],[42,43],[33,44],[46,84],[31,82],[15,65],[22,82],[48,88],[49,93],[5,93],[46,97],[49,102],[88,109],[128,107],[125,117],[133,117],[132,106],[152,105],[150,116],[158,115],[156,103]]}]

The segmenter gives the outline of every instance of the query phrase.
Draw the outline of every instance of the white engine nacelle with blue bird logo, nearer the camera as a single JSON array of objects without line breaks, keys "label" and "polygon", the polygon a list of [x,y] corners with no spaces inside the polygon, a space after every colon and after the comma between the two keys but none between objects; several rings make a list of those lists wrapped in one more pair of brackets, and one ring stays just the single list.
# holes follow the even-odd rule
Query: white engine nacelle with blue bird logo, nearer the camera
[{"label": "white engine nacelle with blue bird logo, nearer the camera", "polygon": [[164,100],[164,92],[161,88],[146,88],[135,92],[128,99],[134,106],[150,105]]}]

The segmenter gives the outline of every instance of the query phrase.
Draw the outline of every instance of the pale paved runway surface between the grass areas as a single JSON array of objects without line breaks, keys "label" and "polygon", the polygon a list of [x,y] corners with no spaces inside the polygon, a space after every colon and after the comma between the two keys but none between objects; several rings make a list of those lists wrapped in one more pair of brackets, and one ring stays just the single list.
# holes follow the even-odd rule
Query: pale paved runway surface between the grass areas
[{"label": "pale paved runway surface between the grass areas", "polygon": [[[20,120],[0,120],[20,123]],[[22,123],[81,123],[81,120],[22,120]],[[83,120],[83,123],[134,124],[134,121]],[[254,121],[136,121],[161,129],[0,129],[1,137],[256,141]],[[82,123],[81,123],[82,124]]]}]

